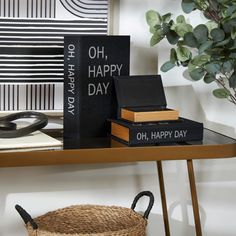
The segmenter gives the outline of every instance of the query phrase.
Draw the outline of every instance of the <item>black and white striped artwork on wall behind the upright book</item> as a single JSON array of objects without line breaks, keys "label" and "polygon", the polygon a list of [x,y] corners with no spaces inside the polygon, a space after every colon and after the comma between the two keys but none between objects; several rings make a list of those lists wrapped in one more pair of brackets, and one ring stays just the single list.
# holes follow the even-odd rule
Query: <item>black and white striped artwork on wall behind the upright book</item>
[{"label": "black and white striped artwork on wall behind the upright book", "polygon": [[63,110],[63,36],[105,35],[112,0],[0,0],[0,112]]}]

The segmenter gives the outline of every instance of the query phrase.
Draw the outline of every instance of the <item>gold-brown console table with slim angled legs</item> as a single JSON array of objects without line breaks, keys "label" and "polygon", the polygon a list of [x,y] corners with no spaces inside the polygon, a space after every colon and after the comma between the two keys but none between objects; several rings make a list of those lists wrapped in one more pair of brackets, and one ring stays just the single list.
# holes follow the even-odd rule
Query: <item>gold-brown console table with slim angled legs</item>
[{"label": "gold-brown console table with slim angled legs", "polygon": [[160,146],[127,147],[113,140],[104,140],[95,147],[71,150],[0,152],[0,167],[43,166],[88,163],[120,163],[155,161],[158,168],[163,219],[166,236],[170,236],[165,185],[161,161],[186,160],[192,195],[196,235],[202,236],[194,177],[193,159],[236,157],[236,140],[205,129],[202,142],[186,142]]}]

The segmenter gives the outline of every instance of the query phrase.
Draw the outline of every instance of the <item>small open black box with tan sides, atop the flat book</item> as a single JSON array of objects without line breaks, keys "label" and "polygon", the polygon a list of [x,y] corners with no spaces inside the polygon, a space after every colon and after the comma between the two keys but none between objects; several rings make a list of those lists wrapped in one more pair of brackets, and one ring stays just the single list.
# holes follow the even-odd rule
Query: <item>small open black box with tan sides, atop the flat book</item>
[{"label": "small open black box with tan sides, atop the flat book", "polygon": [[132,122],[177,120],[179,113],[166,108],[160,75],[114,78],[120,118]]}]

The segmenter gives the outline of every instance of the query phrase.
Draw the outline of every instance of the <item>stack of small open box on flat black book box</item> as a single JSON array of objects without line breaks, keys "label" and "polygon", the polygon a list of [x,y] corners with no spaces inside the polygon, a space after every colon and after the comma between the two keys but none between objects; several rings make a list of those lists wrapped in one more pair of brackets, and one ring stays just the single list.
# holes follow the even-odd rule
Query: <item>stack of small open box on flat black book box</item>
[{"label": "stack of small open box on flat black book box", "polygon": [[129,146],[202,140],[202,123],[167,108],[160,75],[117,76],[114,84],[120,111],[111,120],[115,139]]}]

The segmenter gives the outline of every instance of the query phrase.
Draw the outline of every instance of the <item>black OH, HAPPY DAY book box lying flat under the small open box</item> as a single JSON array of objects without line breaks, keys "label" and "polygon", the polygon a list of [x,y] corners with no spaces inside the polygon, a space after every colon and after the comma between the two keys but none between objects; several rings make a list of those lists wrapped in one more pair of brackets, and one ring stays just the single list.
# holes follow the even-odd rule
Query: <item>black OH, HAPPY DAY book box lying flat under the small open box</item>
[{"label": "black OH, HAPPY DAY book box lying flat under the small open box", "polygon": [[111,120],[111,134],[129,146],[200,141],[203,124],[181,117],[176,121],[151,123]]}]

